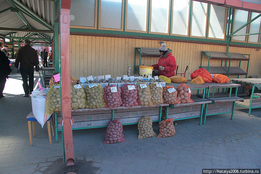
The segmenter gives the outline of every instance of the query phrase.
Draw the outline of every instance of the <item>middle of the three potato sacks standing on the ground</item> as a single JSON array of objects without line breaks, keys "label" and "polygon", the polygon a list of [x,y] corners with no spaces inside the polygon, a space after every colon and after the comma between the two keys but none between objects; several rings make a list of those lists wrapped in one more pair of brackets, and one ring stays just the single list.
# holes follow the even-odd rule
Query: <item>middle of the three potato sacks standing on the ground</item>
[{"label": "middle of the three potato sacks standing on the ground", "polygon": [[152,128],[152,118],[150,116],[143,116],[138,123],[139,139],[156,136],[157,134]]}]

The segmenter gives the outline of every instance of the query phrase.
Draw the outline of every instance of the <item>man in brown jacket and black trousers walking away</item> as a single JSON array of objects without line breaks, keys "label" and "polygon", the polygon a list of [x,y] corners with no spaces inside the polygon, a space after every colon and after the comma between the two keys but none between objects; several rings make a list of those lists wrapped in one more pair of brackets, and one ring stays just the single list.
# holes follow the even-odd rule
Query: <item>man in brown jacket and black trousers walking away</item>
[{"label": "man in brown jacket and black trousers walking away", "polygon": [[[15,67],[18,69],[20,63],[20,72],[23,79],[24,97],[29,97],[29,93],[33,92],[34,85],[34,69],[38,72],[39,60],[37,57],[37,52],[30,45],[31,41],[24,40],[24,47],[18,50],[17,57],[15,60]],[[29,86],[28,86],[29,77]]]}]

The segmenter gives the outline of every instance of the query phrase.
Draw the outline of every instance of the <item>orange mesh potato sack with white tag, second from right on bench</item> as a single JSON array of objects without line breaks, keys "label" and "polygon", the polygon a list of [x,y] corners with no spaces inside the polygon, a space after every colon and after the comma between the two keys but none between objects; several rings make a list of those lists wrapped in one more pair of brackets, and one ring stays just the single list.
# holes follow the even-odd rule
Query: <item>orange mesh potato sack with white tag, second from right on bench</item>
[{"label": "orange mesh potato sack with white tag, second from right on bench", "polygon": [[178,100],[177,94],[178,92],[174,86],[166,86],[162,94],[163,103],[168,103],[170,105],[179,104],[180,100]]}]

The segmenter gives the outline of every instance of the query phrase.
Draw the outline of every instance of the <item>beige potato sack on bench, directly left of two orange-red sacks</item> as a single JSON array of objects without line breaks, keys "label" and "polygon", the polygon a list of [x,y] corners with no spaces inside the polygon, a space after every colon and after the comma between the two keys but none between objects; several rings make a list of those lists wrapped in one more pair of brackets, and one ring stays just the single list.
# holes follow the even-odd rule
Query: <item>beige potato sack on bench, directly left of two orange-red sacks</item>
[{"label": "beige potato sack on bench, directly left of two orange-red sacks", "polygon": [[163,88],[160,84],[152,83],[150,84],[150,90],[152,94],[152,101],[154,105],[159,105],[163,103],[162,93]]}]

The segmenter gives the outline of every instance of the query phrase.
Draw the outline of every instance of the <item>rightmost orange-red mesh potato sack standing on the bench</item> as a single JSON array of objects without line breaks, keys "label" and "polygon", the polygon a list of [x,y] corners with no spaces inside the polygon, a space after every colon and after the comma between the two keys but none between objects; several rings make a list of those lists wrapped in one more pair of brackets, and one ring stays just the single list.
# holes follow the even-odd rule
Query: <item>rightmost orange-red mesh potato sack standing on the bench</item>
[{"label": "rightmost orange-red mesh potato sack standing on the bench", "polygon": [[191,91],[189,86],[187,86],[185,83],[180,84],[177,88],[177,98],[180,100],[180,103],[193,103],[194,101],[190,98]]}]

